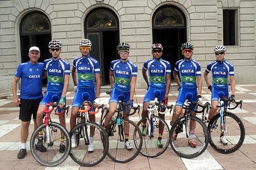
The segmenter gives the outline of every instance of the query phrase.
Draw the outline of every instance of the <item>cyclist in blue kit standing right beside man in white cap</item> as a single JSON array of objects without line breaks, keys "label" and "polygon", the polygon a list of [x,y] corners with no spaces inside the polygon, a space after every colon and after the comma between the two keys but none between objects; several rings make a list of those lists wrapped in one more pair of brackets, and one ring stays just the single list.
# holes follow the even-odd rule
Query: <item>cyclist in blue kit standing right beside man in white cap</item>
[{"label": "cyclist in blue kit standing right beside man in white cap", "polygon": [[[37,125],[43,123],[43,114],[46,109],[46,104],[50,102],[59,102],[60,108],[66,104],[66,93],[69,86],[69,76],[70,76],[70,64],[60,58],[60,51],[62,44],[58,40],[51,40],[49,42],[49,52],[52,58],[45,60],[44,69],[47,74],[47,92],[44,98],[41,100],[40,105],[37,110],[36,122]],[[59,110],[59,109],[58,109]],[[66,128],[65,114],[59,115],[60,124]],[[36,150],[40,152],[46,152],[46,148],[42,144],[43,136],[42,131],[38,132],[38,142],[35,146]],[[65,137],[61,136],[59,152],[65,152]]]}]

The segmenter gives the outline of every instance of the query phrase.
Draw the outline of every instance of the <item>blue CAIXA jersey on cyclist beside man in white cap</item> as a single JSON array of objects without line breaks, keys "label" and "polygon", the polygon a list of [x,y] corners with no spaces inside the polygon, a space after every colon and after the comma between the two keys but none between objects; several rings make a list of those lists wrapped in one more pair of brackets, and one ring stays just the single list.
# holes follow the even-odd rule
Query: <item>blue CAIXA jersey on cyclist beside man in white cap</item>
[{"label": "blue CAIXA jersey on cyclist beside man in white cap", "polygon": [[52,58],[45,60],[45,71],[47,71],[47,91],[62,92],[64,86],[64,76],[70,75],[70,64],[62,59]]}]

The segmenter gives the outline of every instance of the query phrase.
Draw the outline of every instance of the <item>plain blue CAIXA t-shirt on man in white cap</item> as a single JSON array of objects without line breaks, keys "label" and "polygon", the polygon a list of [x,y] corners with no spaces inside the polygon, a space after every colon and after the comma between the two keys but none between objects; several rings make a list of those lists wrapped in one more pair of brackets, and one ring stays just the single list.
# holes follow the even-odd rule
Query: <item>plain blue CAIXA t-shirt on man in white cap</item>
[{"label": "plain blue CAIXA t-shirt on man in white cap", "polygon": [[42,98],[42,77],[44,76],[44,63],[32,64],[30,62],[18,65],[16,77],[21,78],[20,99]]}]

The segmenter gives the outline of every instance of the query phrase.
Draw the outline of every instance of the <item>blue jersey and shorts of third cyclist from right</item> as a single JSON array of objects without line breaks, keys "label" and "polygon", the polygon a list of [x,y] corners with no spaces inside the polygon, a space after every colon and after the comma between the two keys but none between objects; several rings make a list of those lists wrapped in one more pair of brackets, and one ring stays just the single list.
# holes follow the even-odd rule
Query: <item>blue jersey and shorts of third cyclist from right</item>
[{"label": "blue jersey and shorts of third cyclist from right", "polygon": [[170,63],[166,60],[150,59],[144,62],[143,69],[148,70],[149,87],[143,102],[150,102],[157,98],[158,101],[164,99],[166,88],[166,75],[170,74]]}]

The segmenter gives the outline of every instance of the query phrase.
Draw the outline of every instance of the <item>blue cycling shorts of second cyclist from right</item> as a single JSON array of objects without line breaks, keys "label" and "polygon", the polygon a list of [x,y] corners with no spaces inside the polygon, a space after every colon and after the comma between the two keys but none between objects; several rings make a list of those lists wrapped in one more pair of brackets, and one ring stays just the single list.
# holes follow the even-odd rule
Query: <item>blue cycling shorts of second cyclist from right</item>
[{"label": "blue cycling shorts of second cyclist from right", "polygon": [[[186,88],[181,87],[176,101],[176,106],[183,107],[185,101],[196,102],[197,101],[197,88]],[[190,109],[190,111],[195,111],[195,108]]]}]

